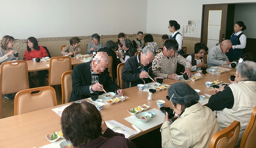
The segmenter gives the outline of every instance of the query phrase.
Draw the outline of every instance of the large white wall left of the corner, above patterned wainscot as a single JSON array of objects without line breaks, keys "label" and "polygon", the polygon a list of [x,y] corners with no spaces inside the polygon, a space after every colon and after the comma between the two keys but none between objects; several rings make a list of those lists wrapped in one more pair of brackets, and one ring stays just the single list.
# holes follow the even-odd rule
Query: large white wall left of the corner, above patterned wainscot
[{"label": "large white wall left of the corner, above patterned wainscot", "polygon": [[146,32],[147,0],[0,0],[0,37]]}]

